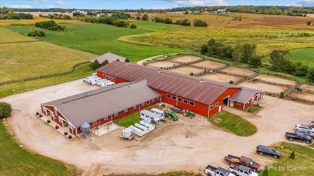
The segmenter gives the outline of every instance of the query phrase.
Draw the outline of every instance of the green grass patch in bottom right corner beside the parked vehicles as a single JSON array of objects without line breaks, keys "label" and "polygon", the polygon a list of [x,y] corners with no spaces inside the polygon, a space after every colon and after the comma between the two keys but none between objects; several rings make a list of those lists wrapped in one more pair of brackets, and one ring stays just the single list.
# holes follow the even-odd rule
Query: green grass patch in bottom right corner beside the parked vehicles
[{"label": "green grass patch in bottom right corner beside the parked vehicles", "polygon": [[[313,175],[314,149],[311,149],[307,146],[288,142],[281,142],[273,147],[275,150],[281,152],[281,158],[279,160],[276,160],[275,163],[268,165],[268,176]],[[292,151],[294,151],[295,153],[294,159],[291,159],[289,157]],[[262,172],[260,174],[262,175]]]}]

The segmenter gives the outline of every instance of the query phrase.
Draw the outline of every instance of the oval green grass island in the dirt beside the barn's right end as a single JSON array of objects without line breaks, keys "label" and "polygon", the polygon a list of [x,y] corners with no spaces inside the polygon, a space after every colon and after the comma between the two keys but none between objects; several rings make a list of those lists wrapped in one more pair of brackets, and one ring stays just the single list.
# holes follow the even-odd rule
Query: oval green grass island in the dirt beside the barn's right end
[{"label": "oval green grass island in the dirt beside the barn's right end", "polygon": [[257,127],[249,121],[226,111],[221,111],[210,117],[209,122],[237,136],[251,136],[257,131]]}]

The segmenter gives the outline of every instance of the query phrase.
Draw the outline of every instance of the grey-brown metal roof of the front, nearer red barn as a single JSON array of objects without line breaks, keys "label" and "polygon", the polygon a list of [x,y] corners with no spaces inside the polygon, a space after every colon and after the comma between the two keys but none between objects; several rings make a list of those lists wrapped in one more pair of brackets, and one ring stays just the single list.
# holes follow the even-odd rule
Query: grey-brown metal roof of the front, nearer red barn
[{"label": "grey-brown metal roof of the front, nearer red barn", "polygon": [[122,82],[41,105],[54,106],[75,127],[160,97],[146,80]]}]

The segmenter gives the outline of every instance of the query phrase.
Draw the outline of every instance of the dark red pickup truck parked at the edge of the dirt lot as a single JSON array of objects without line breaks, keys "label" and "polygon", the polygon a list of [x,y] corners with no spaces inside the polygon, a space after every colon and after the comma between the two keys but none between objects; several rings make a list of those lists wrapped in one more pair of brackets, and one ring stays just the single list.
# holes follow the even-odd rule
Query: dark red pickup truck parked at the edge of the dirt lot
[{"label": "dark red pickup truck parked at the edge of the dirt lot", "polygon": [[234,165],[243,165],[246,167],[249,167],[252,169],[253,172],[257,172],[261,170],[261,165],[260,163],[254,162],[251,158],[241,156],[241,157],[236,157],[231,154],[228,154],[228,156],[225,156],[225,161],[229,162],[229,164],[234,164]]}]

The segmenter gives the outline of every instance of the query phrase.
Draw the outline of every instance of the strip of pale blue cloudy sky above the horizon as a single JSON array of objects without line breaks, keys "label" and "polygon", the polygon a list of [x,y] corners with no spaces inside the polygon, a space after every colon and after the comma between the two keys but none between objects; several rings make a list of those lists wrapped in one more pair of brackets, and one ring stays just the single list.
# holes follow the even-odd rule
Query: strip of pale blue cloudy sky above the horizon
[{"label": "strip of pale blue cloudy sky above the horizon", "polygon": [[0,0],[7,8],[64,8],[64,9],[168,9],[220,5],[285,5],[314,6],[314,0]]}]

